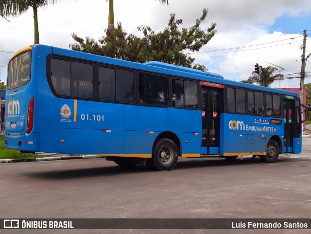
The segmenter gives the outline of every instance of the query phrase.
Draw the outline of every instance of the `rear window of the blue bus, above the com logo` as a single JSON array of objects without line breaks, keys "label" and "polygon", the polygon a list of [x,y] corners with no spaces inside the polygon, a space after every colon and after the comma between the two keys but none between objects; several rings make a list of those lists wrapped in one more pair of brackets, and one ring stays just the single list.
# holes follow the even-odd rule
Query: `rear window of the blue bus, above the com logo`
[{"label": "rear window of the blue bus, above the com logo", "polygon": [[7,89],[15,89],[30,80],[31,51],[17,55],[9,63]]}]

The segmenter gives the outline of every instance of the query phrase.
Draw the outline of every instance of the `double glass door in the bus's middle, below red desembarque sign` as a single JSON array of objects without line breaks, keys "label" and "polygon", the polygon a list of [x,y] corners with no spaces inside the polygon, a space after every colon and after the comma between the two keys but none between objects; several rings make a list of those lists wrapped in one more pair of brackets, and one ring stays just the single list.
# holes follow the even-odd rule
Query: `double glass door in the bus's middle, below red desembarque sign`
[{"label": "double glass door in the bus's middle, below red desembarque sign", "polygon": [[[222,91],[222,90],[221,90]],[[219,154],[220,90],[202,86],[202,144],[201,154]]]}]

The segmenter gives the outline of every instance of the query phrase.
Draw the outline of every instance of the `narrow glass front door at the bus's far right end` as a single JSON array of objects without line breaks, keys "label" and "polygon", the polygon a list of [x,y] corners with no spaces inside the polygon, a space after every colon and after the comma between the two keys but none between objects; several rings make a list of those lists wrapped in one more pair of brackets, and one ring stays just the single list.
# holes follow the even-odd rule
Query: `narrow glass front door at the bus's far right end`
[{"label": "narrow glass front door at the bus's far right end", "polygon": [[294,100],[284,98],[284,153],[293,152],[293,138],[295,132]]}]

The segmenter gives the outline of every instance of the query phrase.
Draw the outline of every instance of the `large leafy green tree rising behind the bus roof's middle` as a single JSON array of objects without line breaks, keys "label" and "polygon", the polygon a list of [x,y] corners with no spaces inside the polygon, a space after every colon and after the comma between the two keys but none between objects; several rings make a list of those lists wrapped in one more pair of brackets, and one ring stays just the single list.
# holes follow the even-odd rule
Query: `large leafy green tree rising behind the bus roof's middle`
[{"label": "large leafy green tree rising behind the bus roof's middle", "polygon": [[194,63],[194,58],[185,54],[184,50],[199,51],[203,45],[216,34],[216,23],[202,30],[201,22],[206,18],[208,9],[203,10],[203,15],[196,19],[190,28],[178,30],[183,23],[182,19],[176,19],[171,14],[168,26],[163,32],[155,33],[149,26],[139,26],[143,37],[127,34],[122,29],[121,22],[112,31],[113,36],[103,36],[98,41],[88,36],[85,39],[72,33],[72,38],[77,42],[70,44],[72,50],[90,54],[98,54],[107,57],[119,58],[132,62],[144,63],[148,61],[160,61],[170,64],[207,70],[202,64]]}]

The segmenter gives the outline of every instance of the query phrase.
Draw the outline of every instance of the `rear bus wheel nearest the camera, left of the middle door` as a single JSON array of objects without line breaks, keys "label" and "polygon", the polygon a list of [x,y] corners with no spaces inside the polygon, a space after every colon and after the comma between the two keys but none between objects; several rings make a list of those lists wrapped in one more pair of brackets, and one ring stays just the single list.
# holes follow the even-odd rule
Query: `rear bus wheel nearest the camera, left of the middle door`
[{"label": "rear bus wheel nearest the camera, left of the middle door", "polygon": [[152,154],[151,164],[159,171],[170,171],[177,163],[178,149],[176,144],[167,138],[156,142]]}]

